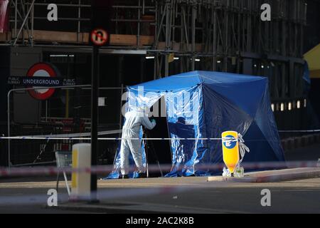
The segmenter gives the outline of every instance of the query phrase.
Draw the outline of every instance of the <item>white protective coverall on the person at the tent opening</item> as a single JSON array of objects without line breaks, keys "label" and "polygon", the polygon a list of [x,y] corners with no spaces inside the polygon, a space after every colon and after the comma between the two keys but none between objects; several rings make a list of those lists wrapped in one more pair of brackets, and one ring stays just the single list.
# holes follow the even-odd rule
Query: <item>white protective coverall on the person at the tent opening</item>
[{"label": "white protective coverall on the person at the tent opening", "polygon": [[[150,122],[148,115],[143,111],[130,111],[124,115],[126,119],[122,129],[122,138],[139,138],[141,126],[151,130],[156,126],[156,122]],[[122,175],[129,172],[129,152],[137,165],[139,172],[146,172],[142,162],[141,140],[122,140],[120,148],[120,166]]]}]

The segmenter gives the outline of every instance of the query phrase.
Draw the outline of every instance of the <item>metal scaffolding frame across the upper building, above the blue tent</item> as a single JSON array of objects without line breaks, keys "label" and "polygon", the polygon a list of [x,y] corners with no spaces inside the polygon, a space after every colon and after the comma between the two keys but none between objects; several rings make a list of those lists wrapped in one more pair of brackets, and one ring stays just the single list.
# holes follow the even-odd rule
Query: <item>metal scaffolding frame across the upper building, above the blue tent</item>
[{"label": "metal scaffolding frame across the upper building, above the blue tent", "polygon": [[[137,36],[134,46],[154,58],[154,78],[193,70],[263,75],[270,79],[273,100],[303,98],[302,59],[306,4],[304,0],[114,0],[114,34]],[[57,1],[78,10],[77,40],[82,9],[90,0]],[[262,4],[272,6],[272,21],[261,21]],[[45,0],[12,0],[11,44],[33,46],[35,7]],[[26,31],[26,32],[24,32]],[[26,36],[26,37],[25,37]],[[142,44],[142,36],[154,38]],[[52,43],[50,43],[52,44]]]}]

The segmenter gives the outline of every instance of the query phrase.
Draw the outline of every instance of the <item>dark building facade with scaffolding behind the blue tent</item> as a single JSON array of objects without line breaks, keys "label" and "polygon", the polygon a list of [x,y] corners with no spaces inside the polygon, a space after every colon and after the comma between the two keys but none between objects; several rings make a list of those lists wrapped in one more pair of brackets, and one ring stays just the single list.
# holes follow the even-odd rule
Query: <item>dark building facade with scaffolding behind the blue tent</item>
[{"label": "dark building facade with scaffolding behind the blue tent", "polygon": [[[272,6],[272,21],[260,19],[264,3]],[[32,1],[25,1],[17,7],[11,3],[9,32],[0,33],[0,133],[4,135],[7,93],[16,88],[7,85],[8,76],[26,76],[33,63],[44,61],[54,64],[63,78],[90,84],[88,41],[93,25],[110,33],[109,45],[100,50],[100,98],[105,103],[100,107],[100,130],[121,128],[125,86],[194,70],[267,76],[279,129],[309,127],[302,56],[319,43],[319,1],[83,0],[56,4],[58,21],[48,22],[46,1],[33,6]],[[23,24],[15,15],[25,15],[29,9]],[[11,135],[90,132],[90,90],[59,89],[49,100],[14,92],[9,114]],[[0,165],[6,165],[7,145],[1,143]],[[11,162],[53,160],[50,151],[70,145],[59,143],[30,145],[28,150],[33,152],[24,157],[21,147],[25,145],[11,147]],[[46,149],[39,152],[39,147]],[[102,147],[107,148],[100,148],[102,162],[112,162],[113,154],[107,154],[114,145]]]}]

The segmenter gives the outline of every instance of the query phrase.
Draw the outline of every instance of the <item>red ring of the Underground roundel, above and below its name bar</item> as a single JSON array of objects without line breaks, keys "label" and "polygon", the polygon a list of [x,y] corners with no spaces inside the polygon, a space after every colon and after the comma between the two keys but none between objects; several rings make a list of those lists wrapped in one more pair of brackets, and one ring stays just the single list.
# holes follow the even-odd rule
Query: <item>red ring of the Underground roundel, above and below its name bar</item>
[{"label": "red ring of the Underground roundel, above and below its name bar", "polygon": [[[55,78],[58,77],[59,73],[49,63],[36,63],[28,70],[27,77],[50,77]],[[50,98],[53,93],[55,93],[54,88],[41,88],[36,89],[37,86],[33,86],[34,90],[28,90],[28,93],[38,100],[46,100]]]}]

